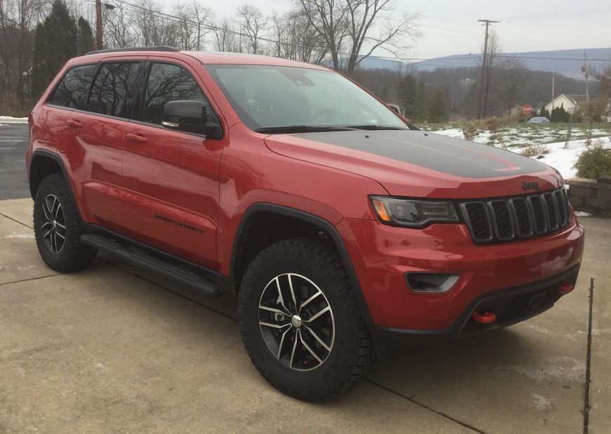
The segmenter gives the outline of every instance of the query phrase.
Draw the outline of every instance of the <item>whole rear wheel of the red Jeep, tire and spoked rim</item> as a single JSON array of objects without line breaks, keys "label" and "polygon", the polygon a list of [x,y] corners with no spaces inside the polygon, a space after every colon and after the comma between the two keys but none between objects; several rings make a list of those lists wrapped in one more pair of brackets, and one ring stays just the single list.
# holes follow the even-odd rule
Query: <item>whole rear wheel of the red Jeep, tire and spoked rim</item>
[{"label": "whole rear wheel of the red Jeep, tire and spoked rim", "polygon": [[72,192],[63,176],[44,178],[34,197],[34,236],[45,263],[60,272],[81,270],[96,249],[81,244],[83,228]]}]

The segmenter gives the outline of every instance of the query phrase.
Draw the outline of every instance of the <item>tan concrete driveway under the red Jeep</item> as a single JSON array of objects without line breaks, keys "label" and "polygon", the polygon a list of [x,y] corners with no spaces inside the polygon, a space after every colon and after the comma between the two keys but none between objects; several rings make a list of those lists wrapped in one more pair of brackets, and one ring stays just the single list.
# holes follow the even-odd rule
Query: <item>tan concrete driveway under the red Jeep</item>
[{"label": "tan concrete driveway under the red Jeep", "polygon": [[582,218],[577,289],[552,310],[380,362],[339,400],[308,404],[251,366],[232,297],[188,294],[108,258],[53,272],[31,214],[31,199],[0,201],[0,433],[578,433],[588,371],[586,428],[611,432],[611,221]]}]

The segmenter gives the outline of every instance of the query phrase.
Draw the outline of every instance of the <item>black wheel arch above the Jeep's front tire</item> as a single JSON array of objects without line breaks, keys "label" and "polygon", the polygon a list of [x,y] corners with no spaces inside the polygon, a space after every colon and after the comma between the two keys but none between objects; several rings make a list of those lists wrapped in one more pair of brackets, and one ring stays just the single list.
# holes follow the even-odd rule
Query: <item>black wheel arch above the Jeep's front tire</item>
[{"label": "black wheel arch above the Jeep's front tire", "polygon": [[[275,223],[282,222],[282,225],[273,227],[275,236],[268,238],[263,235],[261,237],[261,225],[258,225],[258,223],[261,222],[261,218],[269,217],[275,218]],[[285,232],[284,228],[290,228],[290,232]],[[232,281],[236,282],[236,291],[239,290],[239,284],[248,264],[259,252],[271,244],[275,244],[275,242],[304,235],[319,235],[326,238],[329,245],[337,251],[343,266],[346,268],[350,286],[355,292],[355,298],[363,320],[367,328],[370,329],[373,324],[372,316],[369,313],[367,301],[365,301],[360,282],[341,235],[329,221],[299,209],[258,202],[249,206],[244,212],[233,240],[230,264],[230,276]]]}]

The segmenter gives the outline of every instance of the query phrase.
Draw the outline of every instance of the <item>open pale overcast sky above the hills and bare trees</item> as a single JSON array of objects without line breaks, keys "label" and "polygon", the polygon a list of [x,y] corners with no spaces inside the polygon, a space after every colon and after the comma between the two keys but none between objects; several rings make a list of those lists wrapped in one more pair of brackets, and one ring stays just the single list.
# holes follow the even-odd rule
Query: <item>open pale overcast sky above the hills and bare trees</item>
[{"label": "open pale overcast sky above the hills and bare trees", "polygon": [[[216,16],[233,15],[244,0],[210,2]],[[290,0],[247,1],[266,13],[287,11]],[[477,53],[484,28],[478,19],[501,20],[493,27],[505,52],[611,47],[611,2],[604,0],[395,0],[403,11],[421,14],[423,33],[409,58]],[[385,55],[383,51],[376,54]]]}]

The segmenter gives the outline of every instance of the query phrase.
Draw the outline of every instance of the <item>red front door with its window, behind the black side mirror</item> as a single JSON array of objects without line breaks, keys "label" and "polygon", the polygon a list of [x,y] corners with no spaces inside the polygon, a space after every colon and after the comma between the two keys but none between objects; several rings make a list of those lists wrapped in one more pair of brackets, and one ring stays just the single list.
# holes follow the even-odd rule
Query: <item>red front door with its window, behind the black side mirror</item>
[{"label": "red front door with its window, behind the black side mirror", "polygon": [[[140,111],[126,129],[121,213],[129,235],[197,263],[216,266],[218,166],[224,139],[162,126],[164,105],[200,100],[213,114],[195,70],[148,58]],[[213,114],[209,122],[218,123]]]}]

